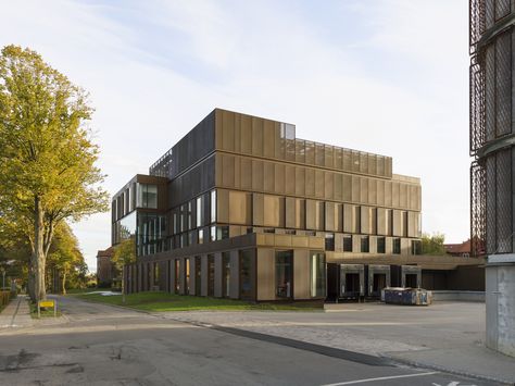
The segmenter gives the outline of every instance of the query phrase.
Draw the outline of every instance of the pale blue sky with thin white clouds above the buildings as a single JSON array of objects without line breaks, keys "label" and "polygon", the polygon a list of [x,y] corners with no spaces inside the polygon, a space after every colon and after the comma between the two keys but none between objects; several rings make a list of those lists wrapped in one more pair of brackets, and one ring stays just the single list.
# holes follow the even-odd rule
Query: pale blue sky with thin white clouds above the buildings
[{"label": "pale blue sky with thin white clouds above the buildings", "polygon": [[[467,0],[1,0],[18,45],[90,94],[114,195],[214,108],[390,155],[423,232],[469,234]],[[72,224],[90,271],[111,215]]]}]

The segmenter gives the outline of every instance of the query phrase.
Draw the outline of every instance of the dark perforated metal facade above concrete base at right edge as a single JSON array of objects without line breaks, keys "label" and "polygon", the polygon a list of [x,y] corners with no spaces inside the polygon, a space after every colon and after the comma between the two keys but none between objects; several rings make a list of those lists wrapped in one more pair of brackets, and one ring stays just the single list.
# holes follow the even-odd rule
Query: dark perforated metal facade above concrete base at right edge
[{"label": "dark perforated metal facade above concrete base at right edge", "polygon": [[473,253],[514,251],[514,0],[470,0]]}]

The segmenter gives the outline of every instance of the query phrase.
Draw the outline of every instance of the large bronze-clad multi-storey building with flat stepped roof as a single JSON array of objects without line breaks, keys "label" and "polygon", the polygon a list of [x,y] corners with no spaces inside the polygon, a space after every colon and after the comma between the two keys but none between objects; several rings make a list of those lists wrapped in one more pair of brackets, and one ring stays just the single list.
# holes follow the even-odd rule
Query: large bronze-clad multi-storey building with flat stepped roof
[{"label": "large bronze-clad multi-storey building with flat stepped roof", "polygon": [[136,240],[137,263],[125,267],[129,292],[377,296],[394,279],[447,283],[448,271],[472,263],[418,256],[420,191],[418,178],[392,173],[390,157],[215,109],[114,196],[112,240]]}]

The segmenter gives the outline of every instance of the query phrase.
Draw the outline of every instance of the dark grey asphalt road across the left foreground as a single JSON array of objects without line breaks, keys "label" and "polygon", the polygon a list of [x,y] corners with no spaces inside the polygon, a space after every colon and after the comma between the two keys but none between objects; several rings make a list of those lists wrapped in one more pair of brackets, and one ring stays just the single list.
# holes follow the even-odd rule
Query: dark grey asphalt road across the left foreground
[{"label": "dark grey asphalt road across the left foreground", "polygon": [[0,331],[0,385],[494,385],[75,298],[59,303],[63,323]]}]

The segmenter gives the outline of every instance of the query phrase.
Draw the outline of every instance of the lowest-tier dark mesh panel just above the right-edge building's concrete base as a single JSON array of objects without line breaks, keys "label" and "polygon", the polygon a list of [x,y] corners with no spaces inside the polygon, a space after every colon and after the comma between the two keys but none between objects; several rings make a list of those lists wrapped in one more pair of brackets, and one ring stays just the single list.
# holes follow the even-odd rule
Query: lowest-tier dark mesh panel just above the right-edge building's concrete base
[{"label": "lowest-tier dark mesh panel just above the right-edge building's concrete base", "polygon": [[[507,253],[512,251],[512,151],[502,150],[497,153],[495,171],[497,199],[497,249],[494,252]],[[487,187],[493,190],[493,186]],[[489,249],[489,252],[491,250]]]}]

